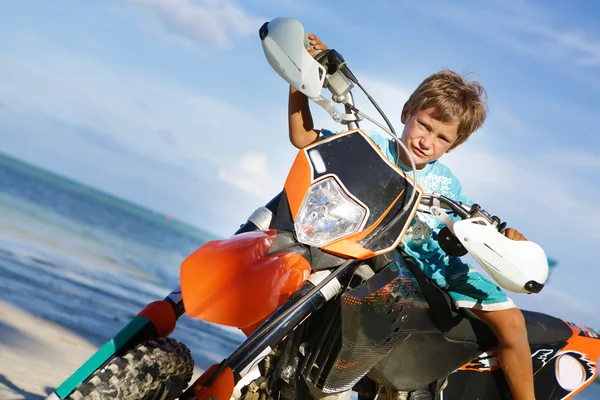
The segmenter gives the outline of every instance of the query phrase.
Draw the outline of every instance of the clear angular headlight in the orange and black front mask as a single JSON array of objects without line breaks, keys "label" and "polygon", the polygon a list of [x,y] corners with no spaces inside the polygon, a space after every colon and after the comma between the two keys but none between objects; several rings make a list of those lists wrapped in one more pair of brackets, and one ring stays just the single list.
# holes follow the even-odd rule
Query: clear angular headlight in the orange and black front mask
[{"label": "clear angular headlight in the orange and black front mask", "polygon": [[301,243],[321,247],[356,232],[366,214],[366,208],[330,177],[308,190],[294,228]]}]

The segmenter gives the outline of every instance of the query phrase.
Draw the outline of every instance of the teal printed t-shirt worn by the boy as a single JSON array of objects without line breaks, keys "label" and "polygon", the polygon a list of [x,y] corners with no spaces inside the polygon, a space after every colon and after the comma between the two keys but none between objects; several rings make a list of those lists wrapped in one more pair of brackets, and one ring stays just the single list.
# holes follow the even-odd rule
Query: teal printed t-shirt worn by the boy
[{"label": "teal printed t-shirt worn by the boy", "polygon": [[[396,161],[396,146],[392,138],[384,137],[377,132],[366,132],[377,144],[385,156],[392,162]],[[329,130],[321,131],[321,138],[335,135]],[[404,171],[412,169],[401,161],[397,164]],[[452,174],[450,168],[439,161],[432,161],[425,168],[417,170],[417,183],[427,193],[437,192],[450,199],[465,204],[473,202],[462,192],[459,180]],[[459,258],[448,257],[437,242],[437,235],[444,224],[433,215],[417,212],[415,218],[402,239],[405,251],[419,261],[423,272],[433,279],[440,287],[447,287],[446,271],[451,266],[453,273],[457,269],[467,270],[469,267]],[[461,265],[462,264],[462,265]]]}]

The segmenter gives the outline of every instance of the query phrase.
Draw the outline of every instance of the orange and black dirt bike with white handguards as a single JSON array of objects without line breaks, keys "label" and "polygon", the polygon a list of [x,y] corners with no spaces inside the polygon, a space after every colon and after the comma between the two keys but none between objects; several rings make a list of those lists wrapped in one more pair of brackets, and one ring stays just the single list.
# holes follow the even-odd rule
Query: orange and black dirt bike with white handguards
[{"label": "orange and black dirt bike with white handguards", "polygon": [[[364,88],[335,50],[309,55],[299,22],[276,19],[259,34],[271,66],[349,130],[301,149],[278,196],[231,238],[185,259],[180,288],[47,400],[511,398],[492,332],[455,309],[401,242],[415,214],[429,212],[446,225],[446,253],[470,253],[518,293],[542,290],[544,251],[506,238],[506,224],[477,205],[424,193],[390,162],[358,128],[378,124],[353,104],[351,89]],[[345,113],[320,96],[324,86]],[[395,137],[388,125],[379,124]],[[189,349],[168,338],[184,313],[247,335],[191,385]],[[600,333],[523,313],[536,397],[572,398],[596,377]]]}]

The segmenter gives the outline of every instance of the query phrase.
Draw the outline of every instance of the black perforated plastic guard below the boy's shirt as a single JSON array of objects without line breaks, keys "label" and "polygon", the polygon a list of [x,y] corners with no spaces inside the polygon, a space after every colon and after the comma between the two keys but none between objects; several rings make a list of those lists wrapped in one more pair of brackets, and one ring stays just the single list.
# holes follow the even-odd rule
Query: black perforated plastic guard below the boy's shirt
[{"label": "black perforated plastic guard below the boy's shirt", "polygon": [[323,393],[351,389],[411,333],[437,331],[416,280],[396,261],[342,296],[342,346]]}]

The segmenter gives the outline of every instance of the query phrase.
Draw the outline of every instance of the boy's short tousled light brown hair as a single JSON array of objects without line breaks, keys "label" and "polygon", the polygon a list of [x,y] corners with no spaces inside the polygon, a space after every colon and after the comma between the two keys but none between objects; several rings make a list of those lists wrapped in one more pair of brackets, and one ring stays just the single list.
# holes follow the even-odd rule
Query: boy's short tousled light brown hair
[{"label": "boy's short tousled light brown hair", "polygon": [[458,138],[450,149],[463,144],[469,136],[481,128],[487,115],[487,94],[477,81],[466,81],[461,75],[448,69],[425,79],[410,95],[406,105],[407,118],[424,110],[444,123],[458,122]]}]

